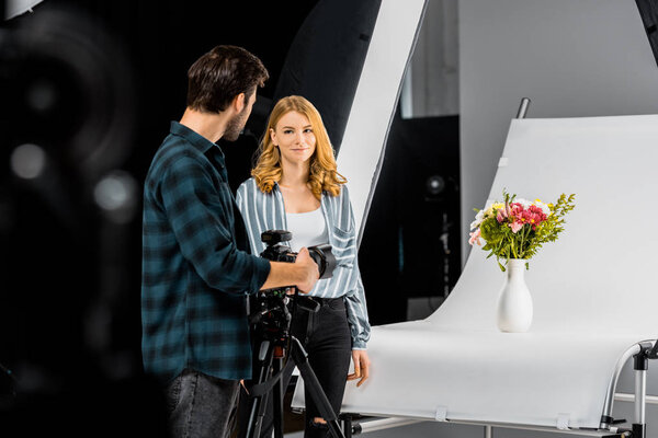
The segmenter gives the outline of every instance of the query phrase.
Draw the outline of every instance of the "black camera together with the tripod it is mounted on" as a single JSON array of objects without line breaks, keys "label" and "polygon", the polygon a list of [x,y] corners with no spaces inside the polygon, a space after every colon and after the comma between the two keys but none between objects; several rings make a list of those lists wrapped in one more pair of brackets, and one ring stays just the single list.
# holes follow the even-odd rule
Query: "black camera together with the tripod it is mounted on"
[{"label": "black camera together with the tripod it is mounted on", "polygon": [[[260,255],[273,262],[295,262],[297,253],[281,244],[281,242],[291,239],[292,233],[290,231],[265,231],[261,234],[261,240],[266,243],[266,247]],[[320,278],[330,278],[336,266],[336,257],[331,253],[331,246],[310,246],[308,252],[318,264]],[[294,289],[293,293],[290,292],[291,288]],[[296,311],[302,308],[309,312],[317,312],[320,308],[319,303],[309,297],[300,296],[295,286],[261,290],[256,300],[257,310],[249,315],[254,339],[254,380],[248,389],[249,416],[240,436],[246,438],[260,436],[268,397],[272,396],[274,436],[283,438],[281,377],[286,370],[290,371],[294,366],[297,366],[304,379],[305,388],[308,389],[310,397],[318,406],[322,418],[327,422],[329,431],[334,438],[344,438],[344,434],[338,425],[338,417],[308,364],[306,350],[302,343],[291,334],[291,322]]]}]

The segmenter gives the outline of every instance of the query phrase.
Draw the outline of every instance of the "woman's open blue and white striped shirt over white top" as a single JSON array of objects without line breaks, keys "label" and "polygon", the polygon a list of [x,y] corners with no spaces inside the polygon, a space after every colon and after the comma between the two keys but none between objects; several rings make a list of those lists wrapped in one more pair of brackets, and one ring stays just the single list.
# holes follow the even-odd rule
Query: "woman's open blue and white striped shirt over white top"
[{"label": "woman's open blue and white striped shirt over white top", "polygon": [[[288,230],[283,195],[277,184],[274,184],[272,193],[265,194],[258,187],[254,178],[249,178],[238,187],[236,201],[245,219],[254,254],[260,254],[265,249],[260,239],[263,231]],[[327,221],[329,244],[337,266],[331,278],[318,280],[308,295],[319,298],[344,297],[352,348],[365,349],[371,326],[359,272],[356,232],[348,188],[343,185],[336,197],[322,193],[320,208]],[[294,230],[288,231],[294,234]]]}]

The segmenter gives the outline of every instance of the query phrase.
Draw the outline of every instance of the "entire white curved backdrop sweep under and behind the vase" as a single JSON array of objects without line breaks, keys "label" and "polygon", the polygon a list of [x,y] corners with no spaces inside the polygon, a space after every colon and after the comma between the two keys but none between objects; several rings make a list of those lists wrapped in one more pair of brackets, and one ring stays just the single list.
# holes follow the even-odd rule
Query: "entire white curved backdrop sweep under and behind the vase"
[{"label": "entire white curved backdrop sweep under and behind the vase", "polygon": [[598,427],[624,353],[658,335],[658,116],[513,120],[503,158],[491,200],[576,194],[530,262],[531,331],[498,332],[503,274],[476,249],[434,314],[373,327],[371,379],[348,384],[342,412]]}]

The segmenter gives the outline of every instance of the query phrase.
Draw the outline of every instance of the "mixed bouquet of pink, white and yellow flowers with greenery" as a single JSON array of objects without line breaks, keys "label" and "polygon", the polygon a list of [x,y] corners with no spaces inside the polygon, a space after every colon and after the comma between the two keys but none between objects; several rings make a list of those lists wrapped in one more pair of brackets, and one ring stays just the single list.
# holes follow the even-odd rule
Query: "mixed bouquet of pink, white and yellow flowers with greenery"
[{"label": "mixed bouquet of pink, white and yellow flowers with greenery", "polygon": [[[475,210],[477,215],[470,223],[470,245],[481,245],[489,251],[489,258],[496,255],[501,270],[510,258],[530,260],[546,242],[554,242],[564,231],[564,216],[575,207],[575,194],[561,194],[554,204],[540,199],[529,201],[517,198],[503,191],[504,201],[494,203],[486,209]],[[527,268],[527,262],[526,262]]]}]

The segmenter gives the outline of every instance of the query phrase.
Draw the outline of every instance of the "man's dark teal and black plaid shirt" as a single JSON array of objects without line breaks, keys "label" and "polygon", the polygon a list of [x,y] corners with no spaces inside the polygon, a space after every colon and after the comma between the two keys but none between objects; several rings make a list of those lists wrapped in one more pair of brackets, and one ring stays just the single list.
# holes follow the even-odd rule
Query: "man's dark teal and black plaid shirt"
[{"label": "man's dark teal and black plaid shirt", "polygon": [[184,368],[251,377],[246,293],[265,283],[270,263],[238,249],[236,211],[219,147],[172,122],[146,177],[143,218],[141,353],[145,371],[163,381]]}]

